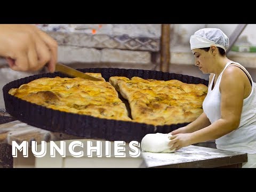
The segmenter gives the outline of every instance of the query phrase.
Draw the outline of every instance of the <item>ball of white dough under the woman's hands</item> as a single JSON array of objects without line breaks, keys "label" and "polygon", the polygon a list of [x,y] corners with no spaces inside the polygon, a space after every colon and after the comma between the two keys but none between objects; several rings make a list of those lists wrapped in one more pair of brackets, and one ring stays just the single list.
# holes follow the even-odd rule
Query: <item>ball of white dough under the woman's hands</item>
[{"label": "ball of white dough under the woman's hands", "polygon": [[175,149],[170,150],[172,146],[168,145],[170,135],[164,133],[146,134],[141,140],[141,149],[151,153],[173,153]]}]

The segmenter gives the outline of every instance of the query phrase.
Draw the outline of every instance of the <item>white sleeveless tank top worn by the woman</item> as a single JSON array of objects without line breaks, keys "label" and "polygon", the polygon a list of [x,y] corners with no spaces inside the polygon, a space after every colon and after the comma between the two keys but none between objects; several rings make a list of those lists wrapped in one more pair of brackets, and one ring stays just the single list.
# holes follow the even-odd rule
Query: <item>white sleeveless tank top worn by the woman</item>
[{"label": "white sleeveless tank top worn by the woman", "polygon": [[[239,63],[230,61],[227,63],[223,71],[231,64],[235,63],[247,72],[252,81],[252,91],[250,95],[244,99],[241,121],[238,128],[215,140],[216,147],[221,150],[237,151],[247,154],[256,154],[256,84],[253,83],[251,75]],[[212,90],[214,77],[208,87],[208,93],[203,102],[203,110],[211,123],[214,123],[221,117],[220,102],[221,93],[219,90],[222,73],[219,75],[215,86]],[[235,97],[235,95],[234,95]]]}]

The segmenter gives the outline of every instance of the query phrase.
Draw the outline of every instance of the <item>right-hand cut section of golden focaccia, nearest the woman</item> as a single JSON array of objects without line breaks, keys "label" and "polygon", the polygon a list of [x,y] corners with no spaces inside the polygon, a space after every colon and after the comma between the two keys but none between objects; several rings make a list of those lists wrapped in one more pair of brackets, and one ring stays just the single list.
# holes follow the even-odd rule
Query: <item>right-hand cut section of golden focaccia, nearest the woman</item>
[{"label": "right-hand cut section of golden focaccia, nearest the woman", "polygon": [[129,101],[135,122],[187,123],[203,113],[202,103],[207,94],[207,86],[203,84],[117,76],[110,77],[109,82]]}]

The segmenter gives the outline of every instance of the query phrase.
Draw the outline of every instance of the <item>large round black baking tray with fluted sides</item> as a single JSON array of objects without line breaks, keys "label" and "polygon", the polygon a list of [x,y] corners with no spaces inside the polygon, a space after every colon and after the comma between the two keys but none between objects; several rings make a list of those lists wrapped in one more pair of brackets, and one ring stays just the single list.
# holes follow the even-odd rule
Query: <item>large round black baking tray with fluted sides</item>
[{"label": "large round black baking tray with fluted sides", "polygon": [[[145,79],[150,78],[164,81],[177,79],[183,83],[202,83],[206,86],[208,85],[208,81],[202,78],[175,73],[164,73],[155,70],[119,68],[86,68],[77,70],[83,73],[101,73],[106,81],[108,81],[111,76],[125,76],[128,78],[138,76]],[[3,87],[3,95],[7,113],[24,123],[41,129],[67,133],[83,138],[105,139],[109,141],[122,140],[130,142],[135,140],[140,142],[148,133],[169,133],[188,124],[154,126],[144,123],[116,121],[88,115],[66,113],[21,100],[8,93],[10,89],[18,88],[20,85],[29,83],[35,79],[55,76],[68,77],[59,72],[46,73],[21,78],[6,84]]]}]

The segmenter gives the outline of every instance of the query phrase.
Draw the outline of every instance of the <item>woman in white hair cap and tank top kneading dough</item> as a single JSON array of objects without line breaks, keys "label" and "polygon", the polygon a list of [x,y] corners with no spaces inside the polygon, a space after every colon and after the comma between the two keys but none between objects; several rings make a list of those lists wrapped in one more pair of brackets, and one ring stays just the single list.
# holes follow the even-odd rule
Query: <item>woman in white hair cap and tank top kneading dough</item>
[{"label": "woman in white hair cap and tank top kneading dough", "polygon": [[228,37],[204,28],[190,37],[195,66],[210,73],[204,112],[192,123],[171,132],[171,149],[215,140],[221,150],[247,153],[243,167],[256,167],[256,87],[248,71],[226,57]]}]

